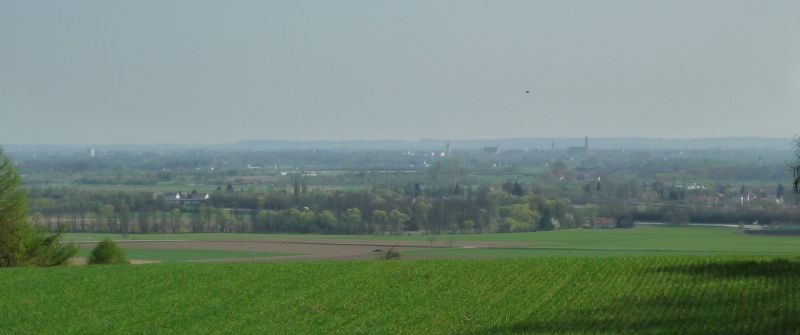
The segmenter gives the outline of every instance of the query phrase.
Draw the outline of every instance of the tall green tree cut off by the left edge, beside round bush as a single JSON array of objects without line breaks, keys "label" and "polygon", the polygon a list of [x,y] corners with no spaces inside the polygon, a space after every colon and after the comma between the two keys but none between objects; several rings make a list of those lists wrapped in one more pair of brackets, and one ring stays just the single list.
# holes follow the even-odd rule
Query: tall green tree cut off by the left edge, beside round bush
[{"label": "tall green tree cut off by the left edge, beside round bush", "polygon": [[27,197],[10,159],[0,150],[0,267],[66,263],[78,249],[61,244],[61,232],[45,233],[27,219]]}]

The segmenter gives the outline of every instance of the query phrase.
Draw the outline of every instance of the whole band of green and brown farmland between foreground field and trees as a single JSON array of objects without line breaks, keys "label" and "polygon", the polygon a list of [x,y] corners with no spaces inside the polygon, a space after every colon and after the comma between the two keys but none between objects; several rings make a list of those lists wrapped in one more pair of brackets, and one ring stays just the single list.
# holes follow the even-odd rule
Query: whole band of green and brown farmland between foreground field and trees
[{"label": "whole band of green and brown farmland between foreground field and trees", "polygon": [[[376,257],[373,253],[376,248],[391,246],[399,248],[404,258],[800,255],[800,237],[752,236],[732,228],[648,225],[633,229],[438,236],[186,233],[67,234],[66,237],[71,241],[111,238],[121,242],[120,246],[131,253],[131,259],[158,261],[248,260],[253,252],[258,253],[257,261],[368,259]],[[84,250],[92,246],[80,245]],[[166,250],[169,254],[148,249]],[[173,255],[180,250],[188,250],[195,256]],[[208,254],[197,253],[200,250]],[[218,252],[234,254],[215,254]]]}]

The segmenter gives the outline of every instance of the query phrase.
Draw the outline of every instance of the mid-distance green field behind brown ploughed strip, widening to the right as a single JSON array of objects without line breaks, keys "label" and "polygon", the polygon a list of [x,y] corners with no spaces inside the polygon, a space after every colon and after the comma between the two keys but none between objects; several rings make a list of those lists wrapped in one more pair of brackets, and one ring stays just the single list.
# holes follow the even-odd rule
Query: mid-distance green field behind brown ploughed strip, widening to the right
[{"label": "mid-distance green field behind brown ploughed strip, widening to the right", "polygon": [[[291,235],[291,234],[145,234],[128,235],[123,238],[116,234],[67,234],[67,240],[86,241],[112,238],[114,240],[292,240],[292,241],[412,241],[428,243],[430,236],[375,236],[375,235]],[[664,254],[664,255],[800,255],[800,237],[752,236],[739,233],[733,228],[719,227],[659,227],[637,226],[634,229],[574,229],[533,233],[508,234],[460,234],[438,235],[436,242],[449,245],[449,240],[457,247],[470,246],[480,242],[513,242],[516,246],[543,250],[573,250],[576,254],[592,251],[605,251],[610,255]],[[433,254],[468,255],[471,253],[490,253],[477,249],[433,250]],[[526,252],[510,250],[514,256]],[[618,252],[613,254],[612,252]],[[548,255],[544,255],[548,256]]]}]

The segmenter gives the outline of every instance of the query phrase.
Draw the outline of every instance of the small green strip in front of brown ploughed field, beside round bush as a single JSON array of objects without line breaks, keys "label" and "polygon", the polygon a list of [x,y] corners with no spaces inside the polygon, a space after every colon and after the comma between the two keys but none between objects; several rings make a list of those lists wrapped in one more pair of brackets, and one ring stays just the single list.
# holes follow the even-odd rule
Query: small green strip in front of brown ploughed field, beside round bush
[{"label": "small green strip in front of brown ploughed field, beside round bush", "polygon": [[[88,258],[91,249],[81,248],[78,256]],[[281,252],[245,252],[229,250],[206,249],[124,249],[128,259],[159,261],[162,263],[176,262],[208,262],[222,259],[248,259],[255,257],[274,257],[296,255]]]}]

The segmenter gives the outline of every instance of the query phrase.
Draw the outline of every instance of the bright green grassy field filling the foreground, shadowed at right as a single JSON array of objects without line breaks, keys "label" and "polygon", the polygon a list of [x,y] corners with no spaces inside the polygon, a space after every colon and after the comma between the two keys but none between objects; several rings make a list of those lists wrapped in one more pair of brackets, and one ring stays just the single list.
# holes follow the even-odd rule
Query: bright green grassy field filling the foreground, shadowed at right
[{"label": "bright green grassy field filling the foreground, shadowed at right", "polygon": [[796,257],[17,268],[0,286],[10,334],[800,333]]}]

